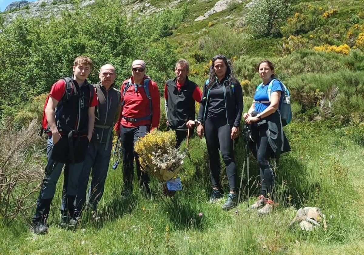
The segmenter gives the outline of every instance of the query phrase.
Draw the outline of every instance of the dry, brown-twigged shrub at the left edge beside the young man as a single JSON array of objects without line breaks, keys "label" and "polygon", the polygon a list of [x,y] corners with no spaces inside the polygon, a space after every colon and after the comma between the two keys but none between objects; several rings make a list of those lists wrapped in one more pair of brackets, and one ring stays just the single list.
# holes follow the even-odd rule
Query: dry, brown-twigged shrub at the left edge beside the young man
[{"label": "dry, brown-twigged shrub at the left edge beside the young man", "polygon": [[20,132],[11,123],[0,130],[0,139],[6,141],[0,148],[0,216],[5,224],[32,208],[31,195],[40,187],[43,171],[37,145],[43,139],[36,126],[34,119]]}]

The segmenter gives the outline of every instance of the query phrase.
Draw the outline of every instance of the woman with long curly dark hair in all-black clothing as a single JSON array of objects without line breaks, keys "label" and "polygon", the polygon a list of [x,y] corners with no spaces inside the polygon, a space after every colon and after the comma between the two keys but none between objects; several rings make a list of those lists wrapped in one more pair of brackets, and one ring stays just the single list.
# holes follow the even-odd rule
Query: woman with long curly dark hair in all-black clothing
[{"label": "woman with long curly dark hair in all-black clothing", "polygon": [[233,156],[233,140],[238,137],[243,94],[240,83],[233,76],[232,64],[224,55],[212,59],[209,79],[203,87],[202,100],[198,111],[197,134],[205,133],[207,151],[210,157],[210,173],[213,191],[209,199],[214,203],[223,197],[221,193],[220,157],[225,163],[230,192],[223,209],[236,205],[236,164]]}]

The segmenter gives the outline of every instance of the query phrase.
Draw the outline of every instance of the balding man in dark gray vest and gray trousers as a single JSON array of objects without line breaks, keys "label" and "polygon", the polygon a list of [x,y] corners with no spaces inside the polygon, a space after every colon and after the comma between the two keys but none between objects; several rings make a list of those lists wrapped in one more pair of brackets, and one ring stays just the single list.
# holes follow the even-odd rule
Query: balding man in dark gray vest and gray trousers
[{"label": "balding man in dark gray vest and gray trousers", "polygon": [[114,87],[116,78],[115,68],[110,64],[102,66],[99,78],[100,82],[94,85],[99,102],[98,106],[95,107],[95,129],[91,142],[88,145],[83,169],[78,181],[75,213],[69,223],[67,219],[63,219],[62,222],[63,224],[68,223],[70,227],[76,225],[80,219],[80,214],[86,202],[86,190],[90,172],[91,184],[88,189],[87,206],[95,210],[103,195],[111,156],[112,129],[120,114],[121,94]]}]

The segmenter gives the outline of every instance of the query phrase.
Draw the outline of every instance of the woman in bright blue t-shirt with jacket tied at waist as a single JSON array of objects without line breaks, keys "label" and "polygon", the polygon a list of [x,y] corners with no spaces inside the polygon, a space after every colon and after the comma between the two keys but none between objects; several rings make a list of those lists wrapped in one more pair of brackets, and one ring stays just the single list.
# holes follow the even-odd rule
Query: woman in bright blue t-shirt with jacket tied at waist
[{"label": "woman in bright blue t-shirt with jacket tied at waist", "polygon": [[262,83],[258,85],[252,106],[243,117],[251,128],[252,139],[249,146],[260,166],[261,195],[250,208],[262,207],[258,210],[262,215],[270,213],[274,205],[274,172],[269,158],[276,158],[278,162],[280,154],[290,148],[278,111],[284,95],[282,83],[275,78],[274,66],[269,60],[262,60],[257,71]]}]

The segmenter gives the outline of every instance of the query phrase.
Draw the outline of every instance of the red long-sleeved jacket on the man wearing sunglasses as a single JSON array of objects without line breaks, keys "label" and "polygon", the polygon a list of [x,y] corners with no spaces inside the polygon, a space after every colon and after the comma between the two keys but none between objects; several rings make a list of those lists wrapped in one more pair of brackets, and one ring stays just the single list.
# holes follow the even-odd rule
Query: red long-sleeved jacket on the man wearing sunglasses
[{"label": "red long-sleeved jacket on the man wearing sunglasses", "polygon": [[[159,103],[159,92],[157,83],[150,80],[149,82],[149,93],[152,101],[152,119],[146,119],[141,121],[127,121],[123,118],[142,118],[150,114],[150,105],[149,99],[145,94],[144,87],[137,87],[137,91],[135,91],[135,86],[129,86],[123,95],[124,86],[128,80],[124,81],[122,86],[120,87],[121,102],[124,101],[124,105],[120,111],[120,117],[118,122],[115,124],[115,130],[120,130],[120,125],[124,127],[137,127],[142,125],[151,125],[151,128],[158,128],[159,125],[159,117],[161,115],[161,106]],[[131,82],[134,83],[134,79],[131,77]]]}]

